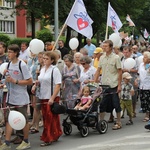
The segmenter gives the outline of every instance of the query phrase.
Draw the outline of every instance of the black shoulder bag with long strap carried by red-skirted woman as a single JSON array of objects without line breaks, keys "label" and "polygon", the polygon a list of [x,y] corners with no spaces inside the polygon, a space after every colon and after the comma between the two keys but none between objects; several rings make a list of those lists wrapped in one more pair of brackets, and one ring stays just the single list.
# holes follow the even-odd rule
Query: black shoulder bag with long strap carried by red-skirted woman
[{"label": "black shoulder bag with long strap carried by red-skirted woman", "polygon": [[[53,93],[53,70],[51,74],[51,95]],[[66,113],[66,107],[63,104],[59,104],[58,102],[54,101],[54,103],[51,105],[51,111],[53,114],[64,114]]]}]

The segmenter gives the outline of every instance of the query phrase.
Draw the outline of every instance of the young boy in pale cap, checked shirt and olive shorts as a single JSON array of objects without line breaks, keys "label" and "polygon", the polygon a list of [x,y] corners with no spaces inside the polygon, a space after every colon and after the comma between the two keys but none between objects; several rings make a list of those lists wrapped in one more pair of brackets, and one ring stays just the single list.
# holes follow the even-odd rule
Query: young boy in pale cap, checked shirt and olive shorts
[{"label": "young boy in pale cap, checked shirt and olive shorts", "polygon": [[126,125],[132,125],[132,96],[134,95],[133,85],[130,83],[132,78],[128,72],[124,72],[122,75],[123,82],[121,86],[121,108],[123,112],[127,110],[127,115],[129,116],[129,121]]}]

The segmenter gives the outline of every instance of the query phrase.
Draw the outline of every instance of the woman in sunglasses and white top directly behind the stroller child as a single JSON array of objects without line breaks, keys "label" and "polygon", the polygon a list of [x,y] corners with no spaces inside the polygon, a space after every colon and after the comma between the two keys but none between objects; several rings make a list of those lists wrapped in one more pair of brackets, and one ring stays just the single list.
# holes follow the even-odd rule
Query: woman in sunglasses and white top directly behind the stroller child
[{"label": "woman in sunglasses and white top directly behind the stroller child", "polygon": [[83,70],[81,70],[81,75],[79,81],[81,82],[81,89],[94,80],[94,74],[96,72],[96,68],[91,66],[90,63],[92,59],[89,56],[82,56],[81,65],[83,66]]}]

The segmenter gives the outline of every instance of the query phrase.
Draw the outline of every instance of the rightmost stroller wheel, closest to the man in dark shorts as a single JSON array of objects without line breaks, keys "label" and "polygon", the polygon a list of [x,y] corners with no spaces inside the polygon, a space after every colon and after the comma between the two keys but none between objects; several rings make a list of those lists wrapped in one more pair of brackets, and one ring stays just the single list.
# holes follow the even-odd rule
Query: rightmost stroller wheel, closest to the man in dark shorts
[{"label": "rightmost stroller wheel, closest to the man in dark shorts", "polygon": [[108,129],[108,123],[105,120],[100,120],[97,123],[96,128],[99,133],[104,134],[104,133],[106,133],[106,131]]}]

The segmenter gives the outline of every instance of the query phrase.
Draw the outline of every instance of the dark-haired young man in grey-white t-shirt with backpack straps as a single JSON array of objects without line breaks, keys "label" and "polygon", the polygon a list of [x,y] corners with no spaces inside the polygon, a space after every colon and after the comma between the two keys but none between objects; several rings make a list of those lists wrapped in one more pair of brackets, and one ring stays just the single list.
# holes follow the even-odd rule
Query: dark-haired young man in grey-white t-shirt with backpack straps
[{"label": "dark-haired young man in grey-white t-shirt with backpack straps", "polygon": [[[26,118],[26,125],[23,128],[24,139],[16,149],[27,149],[30,148],[30,142],[28,141],[29,124],[27,106],[29,104],[29,95],[27,93],[27,85],[32,85],[33,82],[26,63],[18,59],[20,53],[19,46],[16,44],[9,45],[7,53],[10,63],[4,71],[5,81],[8,85],[6,103],[7,106],[13,107],[11,110],[19,111]],[[13,129],[8,122],[8,116],[9,110],[7,109],[5,114],[5,142],[0,146],[0,150],[11,149],[10,139]]]}]

